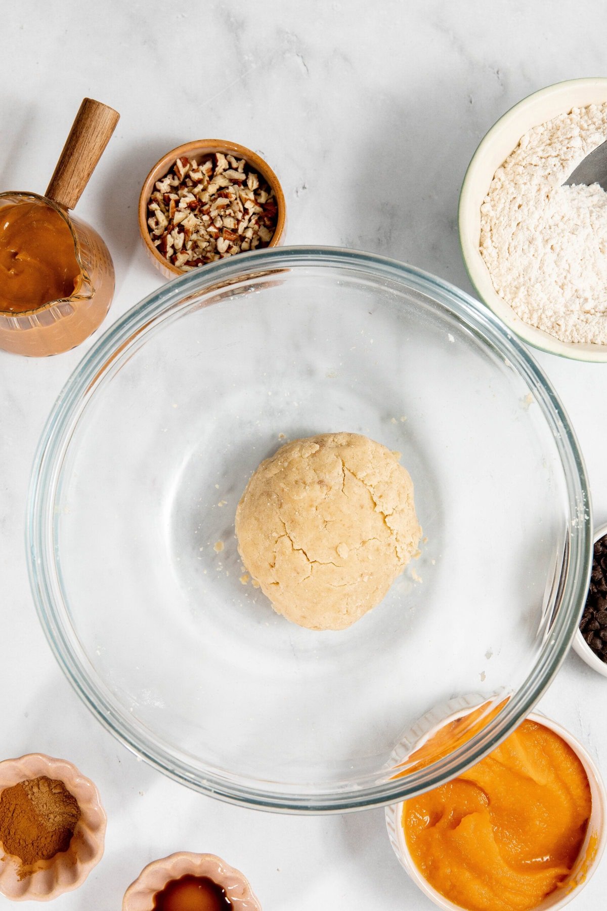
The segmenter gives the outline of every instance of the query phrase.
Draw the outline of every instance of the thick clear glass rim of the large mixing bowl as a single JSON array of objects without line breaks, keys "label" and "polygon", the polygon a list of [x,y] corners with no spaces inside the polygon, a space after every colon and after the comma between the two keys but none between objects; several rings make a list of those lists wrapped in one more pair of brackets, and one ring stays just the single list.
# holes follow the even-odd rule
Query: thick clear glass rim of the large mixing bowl
[{"label": "thick clear glass rim of the large mixing bowl", "polygon": [[[248,780],[221,773],[200,771],[177,758],[154,734],[137,730],[114,710],[96,685],[96,675],[88,673],[66,639],[60,609],[50,584],[54,568],[54,549],[47,547],[47,527],[53,524],[57,466],[65,455],[73,427],[84,413],[88,397],[106,367],[126,355],[129,343],[167,312],[186,308],[197,294],[251,281],[253,276],[288,271],[299,265],[318,269],[334,267],[359,271],[374,279],[396,281],[440,302],[450,312],[483,333],[482,343],[491,343],[517,369],[529,384],[542,415],[551,426],[561,458],[571,517],[571,548],[564,578],[561,572],[560,603],[552,621],[551,635],[542,643],[534,667],[503,709],[469,742],[436,763],[406,777],[390,778],[379,784],[361,787],[339,786],[319,793],[297,794],[290,789],[256,788]],[[72,429],[70,429],[72,428]],[[50,508],[49,508],[50,507]],[[27,499],[25,528],[27,568],[38,619],[56,660],[78,696],[96,719],[131,752],[143,758],[169,778],[208,796],[232,804],[286,813],[344,813],[349,810],[397,803],[415,793],[430,790],[470,768],[491,752],[531,711],[547,689],[565,659],[582,611],[592,565],[592,508],[586,469],[572,425],[550,381],[535,363],[531,353],[491,310],[448,281],[400,261],[374,253],[339,247],[293,246],[268,248],[238,254],[238,257],[206,265],[161,285],[114,322],[85,354],[57,397],[36,450]]]}]

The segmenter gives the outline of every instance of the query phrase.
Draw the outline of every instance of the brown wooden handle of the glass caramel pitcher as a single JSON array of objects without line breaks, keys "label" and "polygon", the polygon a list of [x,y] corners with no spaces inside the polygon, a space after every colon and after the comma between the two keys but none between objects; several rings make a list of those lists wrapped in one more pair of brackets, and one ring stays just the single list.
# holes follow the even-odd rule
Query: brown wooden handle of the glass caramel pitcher
[{"label": "brown wooden handle of the glass caramel pitcher", "polygon": [[74,209],[119,119],[113,107],[93,98],[84,99],[46,189],[49,200]]}]

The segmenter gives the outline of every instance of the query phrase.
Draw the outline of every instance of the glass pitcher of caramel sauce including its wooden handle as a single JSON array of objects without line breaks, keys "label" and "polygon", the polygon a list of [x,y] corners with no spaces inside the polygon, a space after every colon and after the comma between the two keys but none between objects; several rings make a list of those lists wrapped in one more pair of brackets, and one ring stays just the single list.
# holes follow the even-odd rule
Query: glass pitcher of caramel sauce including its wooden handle
[{"label": "glass pitcher of caramel sauce including its wooden handle", "polygon": [[116,127],[111,107],[85,98],[46,196],[0,193],[0,348],[41,357],[83,342],[114,295],[114,266],[76,205]]}]

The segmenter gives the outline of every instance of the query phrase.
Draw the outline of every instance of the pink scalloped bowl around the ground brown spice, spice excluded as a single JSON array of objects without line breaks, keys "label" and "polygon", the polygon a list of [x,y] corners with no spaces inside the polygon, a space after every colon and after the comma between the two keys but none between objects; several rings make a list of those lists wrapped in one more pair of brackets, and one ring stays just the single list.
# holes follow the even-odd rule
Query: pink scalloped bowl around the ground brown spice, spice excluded
[{"label": "pink scalloped bowl around the ground brown spice, spice excluded", "polygon": [[67,850],[28,867],[31,873],[27,875],[23,875],[20,859],[5,854],[0,842],[0,893],[16,902],[32,899],[46,902],[77,889],[104,852],[106,813],[99,793],[95,784],[65,759],[53,759],[41,752],[6,759],[0,763],[0,793],[13,784],[40,775],[63,782],[76,797],[81,816]]}]

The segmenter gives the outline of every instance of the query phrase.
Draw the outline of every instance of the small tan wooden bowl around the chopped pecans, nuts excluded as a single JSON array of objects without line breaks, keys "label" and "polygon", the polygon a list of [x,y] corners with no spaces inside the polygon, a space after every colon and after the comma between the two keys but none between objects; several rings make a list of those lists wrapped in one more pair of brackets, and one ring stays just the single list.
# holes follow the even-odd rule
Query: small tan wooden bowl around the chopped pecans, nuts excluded
[{"label": "small tan wooden bowl around the chopped pecans, nuts excluded", "polygon": [[154,184],[156,181],[163,178],[182,155],[187,156],[187,158],[200,158],[212,155],[214,152],[221,152],[223,155],[232,155],[235,159],[246,159],[248,164],[266,181],[268,187],[273,190],[278,206],[278,220],[276,222],[276,230],[274,231],[272,240],[268,243],[268,247],[278,247],[279,244],[283,242],[287,221],[285,194],[282,191],[278,177],[264,159],[260,159],[250,148],[239,146],[238,142],[227,142],[225,139],[195,139],[193,142],[184,143],[183,146],[172,148],[170,152],[163,155],[147,175],[139,195],[138,214],[141,240],[156,268],[161,271],[163,275],[166,275],[168,279],[172,279],[176,275],[184,275],[185,272],[182,269],[177,269],[177,266],[174,266],[172,262],[167,261],[152,243],[149,230],[147,229],[147,202],[154,191]]}]

